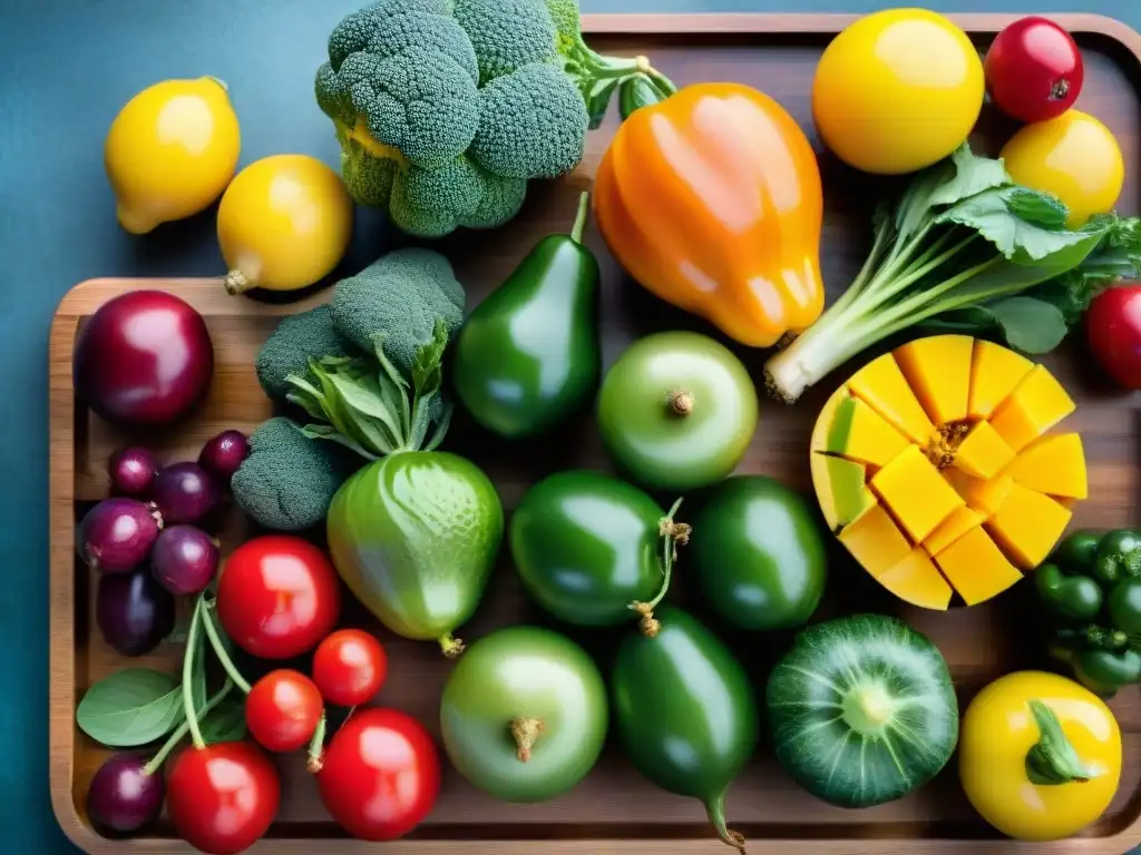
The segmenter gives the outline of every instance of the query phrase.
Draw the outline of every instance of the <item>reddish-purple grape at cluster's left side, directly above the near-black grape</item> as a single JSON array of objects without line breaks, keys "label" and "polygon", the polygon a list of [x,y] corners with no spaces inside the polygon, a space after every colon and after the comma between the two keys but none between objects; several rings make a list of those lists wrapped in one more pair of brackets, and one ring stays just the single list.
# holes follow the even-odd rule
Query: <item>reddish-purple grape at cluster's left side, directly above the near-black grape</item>
[{"label": "reddish-purple grape at cluster's left side, directly above the near-black grape", "polygon": [[94,570],[129,573],[146,561],[162,523],[153,504],[126,496],[104,499],[80,522],[75,551]]}]

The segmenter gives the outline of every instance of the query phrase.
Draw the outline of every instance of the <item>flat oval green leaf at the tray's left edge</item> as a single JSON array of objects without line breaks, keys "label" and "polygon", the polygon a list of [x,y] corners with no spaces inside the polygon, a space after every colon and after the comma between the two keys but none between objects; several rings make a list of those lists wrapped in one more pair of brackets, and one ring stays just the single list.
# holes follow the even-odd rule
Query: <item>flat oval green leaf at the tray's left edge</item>
[{"label": "flat oval green leaf at the tray's left edge", "polygon": [[87,691],[75,709],[75,723],[108,748],[132,748],[162,739],[184,715],[177,677],[153,668],[126,668]]}]

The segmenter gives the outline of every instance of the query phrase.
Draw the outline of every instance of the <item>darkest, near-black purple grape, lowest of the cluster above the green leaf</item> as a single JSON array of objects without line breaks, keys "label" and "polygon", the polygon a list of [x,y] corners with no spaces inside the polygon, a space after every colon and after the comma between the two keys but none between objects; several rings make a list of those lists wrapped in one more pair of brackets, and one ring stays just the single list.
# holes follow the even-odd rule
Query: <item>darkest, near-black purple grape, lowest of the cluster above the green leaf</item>
[{"label": "darkest, near-black purple grape, lowest of the cluster above the green leaf", "polygon": [[140,657],[173,632],[175,597],[149,568],[104,576],[95,597],[95,622],[112,649],[124,657]]}]

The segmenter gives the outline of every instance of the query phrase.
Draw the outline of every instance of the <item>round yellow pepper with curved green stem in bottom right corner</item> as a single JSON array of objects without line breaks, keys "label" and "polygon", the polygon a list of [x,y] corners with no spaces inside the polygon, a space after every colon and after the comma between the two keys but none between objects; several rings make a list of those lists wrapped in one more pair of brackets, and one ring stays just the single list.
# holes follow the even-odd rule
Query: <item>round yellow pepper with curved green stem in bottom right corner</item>
[{"label": "round yellow pepper with curved green stem in bottom right corner", "polygon": [[1019,840],[1057,840],[1109,807],[1122,774],[1122,734],[1084,686],[1018,671],[971,701],[958,758],[963,790],[982,819]]}]

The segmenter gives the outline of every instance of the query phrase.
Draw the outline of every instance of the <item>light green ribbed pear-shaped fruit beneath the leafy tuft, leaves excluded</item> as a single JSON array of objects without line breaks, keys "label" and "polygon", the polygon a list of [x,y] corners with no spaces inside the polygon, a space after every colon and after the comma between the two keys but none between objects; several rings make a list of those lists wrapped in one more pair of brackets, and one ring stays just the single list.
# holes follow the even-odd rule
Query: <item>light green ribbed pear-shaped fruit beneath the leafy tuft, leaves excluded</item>
[{"label": "light green ribbed pear-shaped fruit beneath the leafy tuft, leaves excluded", "polygon": [[462,650],[452,630],[479,604],[503,539],[503,506],[478,466],[446,451],[382,457],[341,484],[326,528],[337,572],[381,624]]}]

